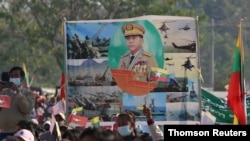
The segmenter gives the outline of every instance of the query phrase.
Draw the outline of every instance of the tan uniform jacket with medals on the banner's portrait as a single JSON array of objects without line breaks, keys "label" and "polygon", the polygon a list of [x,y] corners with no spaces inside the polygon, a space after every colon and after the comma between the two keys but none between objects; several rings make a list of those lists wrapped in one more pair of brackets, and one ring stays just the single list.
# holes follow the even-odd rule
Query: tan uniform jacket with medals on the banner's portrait
[{"label": "tan uniform jacket with medals on the banner's portrait", "polygon": [[134,79],[150,81],[151,67],[158,67],[154,55],[143,51],[130,63],[130,53],[123,55],[120,59],[119,69],[128,69],[134,72]]}]

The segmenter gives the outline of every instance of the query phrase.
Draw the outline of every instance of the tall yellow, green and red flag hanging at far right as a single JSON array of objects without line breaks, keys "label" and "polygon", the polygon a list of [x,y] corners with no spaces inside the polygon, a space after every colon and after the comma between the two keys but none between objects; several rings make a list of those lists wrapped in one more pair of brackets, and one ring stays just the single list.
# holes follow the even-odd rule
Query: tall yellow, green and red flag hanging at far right
[{"label": "tall yellow, green and red flag hanging at far right", "polygon": [[228,101],[227,104],[237,117],[242,125],[246,125],[246,114],[244,108],[245,92],[243,89],[243,64],[244,64],[244,50],[241,38],[241,29],[237,39],[237,44],[234,54],[233,72],[231,74],[230,83],[228,87]]}]

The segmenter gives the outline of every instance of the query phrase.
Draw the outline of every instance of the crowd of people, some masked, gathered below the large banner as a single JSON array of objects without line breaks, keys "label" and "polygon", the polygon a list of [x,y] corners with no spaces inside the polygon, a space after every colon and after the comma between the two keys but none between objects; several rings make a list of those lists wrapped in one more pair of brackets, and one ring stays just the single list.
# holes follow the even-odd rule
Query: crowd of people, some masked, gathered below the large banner
[{"label": "crowd of people, some masked, gathered below the large banner", "polygon": [[[9,96],[9,108],[0,108],[0,141],[163,141],[162,130],[155,124],[150,108],[144,105],[150,133],[137,130],[136,118],[130,112],[118,113],[112,129],[70,127],[66,114],[52,114],[56,97],[32,92],[22,85],[25,73],[19,66],[9,71],[11,86],[0,83],[0,96]],[[54,121],[52,119],[55,119]]]}]

